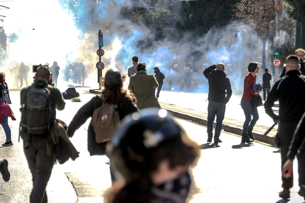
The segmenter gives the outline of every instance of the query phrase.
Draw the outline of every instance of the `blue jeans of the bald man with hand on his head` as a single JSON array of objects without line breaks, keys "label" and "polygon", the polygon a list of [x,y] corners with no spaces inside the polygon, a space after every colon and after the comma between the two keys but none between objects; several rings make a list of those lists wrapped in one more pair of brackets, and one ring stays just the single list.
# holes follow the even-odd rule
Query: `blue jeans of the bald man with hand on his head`
[{"label": "blue jeans of the bald man with hand on his head", "polygon": [[221,102],[209,101],[208,105],[208,122],[206,124],[208,137],[213,137],[213,122],[216,115],[216,126],[215,126],[215,138],[219,138],[222,121],[224,120],[224,112],[226,110],[226,104]]}]

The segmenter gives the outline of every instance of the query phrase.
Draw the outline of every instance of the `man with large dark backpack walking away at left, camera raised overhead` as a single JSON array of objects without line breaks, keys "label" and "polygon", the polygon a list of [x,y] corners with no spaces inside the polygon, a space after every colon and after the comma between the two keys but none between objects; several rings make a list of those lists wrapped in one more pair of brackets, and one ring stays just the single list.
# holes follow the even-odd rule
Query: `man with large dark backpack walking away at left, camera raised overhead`
[{"label": "man with large dark backpack walking away at left, camera raised overhead", "polygon": [[[54,164],[48,141],[50,124],[55,121],[56,110],[63,110],[65,101],[59,89],[49,85],[50,69],[46,65],[37,68],[34,83],[20,91],[20,135],[24,153],[33,176],[30,202],[48,202],[45,188]],[[51,153],[52,154],[52,153]]]}]

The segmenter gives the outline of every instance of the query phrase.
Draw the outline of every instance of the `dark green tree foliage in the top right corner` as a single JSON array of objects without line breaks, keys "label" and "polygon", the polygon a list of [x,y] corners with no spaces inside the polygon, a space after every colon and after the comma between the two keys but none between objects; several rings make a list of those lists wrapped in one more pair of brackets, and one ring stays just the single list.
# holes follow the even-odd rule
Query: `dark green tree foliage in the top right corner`
[{"label": "dark green tree foliage in the top right corner", "polygon": [[284,3],[285,11],[293,19],[305,25],[305,1],[302,0],[286,0]]}]

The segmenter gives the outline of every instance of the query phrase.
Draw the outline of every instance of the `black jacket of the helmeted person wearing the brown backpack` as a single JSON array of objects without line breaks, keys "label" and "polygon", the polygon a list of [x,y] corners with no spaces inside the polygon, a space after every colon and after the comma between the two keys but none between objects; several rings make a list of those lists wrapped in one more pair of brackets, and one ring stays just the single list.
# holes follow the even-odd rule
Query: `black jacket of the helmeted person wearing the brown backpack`
[{"label": "black jacket of the helmeted person wearing the brown backpack", "polygon": [[[128,98],[123,99],[123,107],[118,107],[116,110],[119,113],[120,120],[122,120],[125,116],[135,111],[138,111],[137,106]],[[74,132],[84,124],[89,117],[92,117],[93,111],[100,106],[102,106],[103,100],[99,98],[99,96],[93,97],[90,101],[88,101],[84,106],[82,106],[71,123],[68,126],[68,136],[72,137]],[[95,141],[95,134],[91,122],[88,126],[88,151],[90,156],[92,155],[104,155],[105,154],[105,143],[97,143]]]}]

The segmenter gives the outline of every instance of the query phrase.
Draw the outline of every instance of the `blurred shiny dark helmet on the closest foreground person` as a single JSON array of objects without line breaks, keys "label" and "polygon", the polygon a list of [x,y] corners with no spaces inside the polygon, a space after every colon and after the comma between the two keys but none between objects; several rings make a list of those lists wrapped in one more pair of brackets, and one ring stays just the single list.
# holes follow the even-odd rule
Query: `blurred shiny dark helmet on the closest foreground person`
[{"label": "blurred shiny dark helmet on the closest foreground person", "polygon": [[129,114],[120,123],[107,145],[107,153],[125,180],[133,171],[151,166],[149,156],[158,146],[172,138],[182,140],[185,135],[183,128],[160,108],[145,108]]}]

